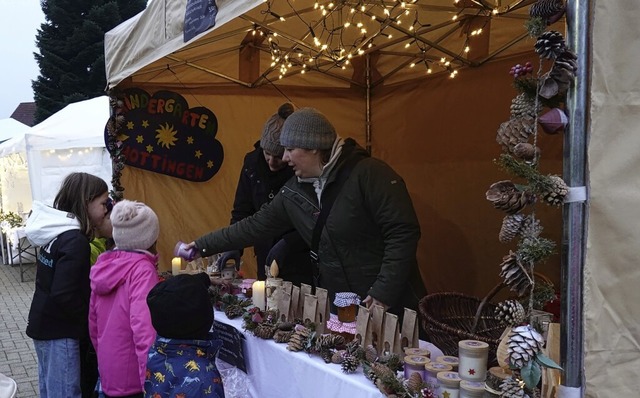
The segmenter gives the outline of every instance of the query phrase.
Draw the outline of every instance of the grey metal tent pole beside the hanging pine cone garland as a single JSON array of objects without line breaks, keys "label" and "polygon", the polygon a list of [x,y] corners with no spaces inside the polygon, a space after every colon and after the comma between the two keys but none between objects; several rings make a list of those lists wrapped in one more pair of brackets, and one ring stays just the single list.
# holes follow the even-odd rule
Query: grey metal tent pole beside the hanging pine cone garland
[{"label": "grey metal tent pole beside the hanging pine cone garland", "polygon": [[[587,132],[589,131],[590,1],[567,2],[567,46],[577,56],[578,70],[567,95],[570,123],[564,136],[563,177],[569,187],[586,189]],[[563,208],[561,366],[558,397],[583,395],[584,314],[583,284],[587,235],[587,195]]]}]

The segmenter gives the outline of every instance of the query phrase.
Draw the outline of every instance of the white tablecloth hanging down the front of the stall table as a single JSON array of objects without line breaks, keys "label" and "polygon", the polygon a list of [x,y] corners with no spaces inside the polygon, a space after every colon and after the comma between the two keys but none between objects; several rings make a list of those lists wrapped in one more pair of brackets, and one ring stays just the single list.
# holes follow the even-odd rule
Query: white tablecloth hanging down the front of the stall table
[{"label": "white tablecloth hanging down the front of the stall table", "polygon": [[242,328],[241,317],[229,319],[224,312],[215,311],[215,320],[235,327],[245,337],[247,373],[217,361],[226,398],[384,397],[360,367],[346,374],[340,365],[325,363],[317,354],[288,351],[287,344],[254,336]]}]

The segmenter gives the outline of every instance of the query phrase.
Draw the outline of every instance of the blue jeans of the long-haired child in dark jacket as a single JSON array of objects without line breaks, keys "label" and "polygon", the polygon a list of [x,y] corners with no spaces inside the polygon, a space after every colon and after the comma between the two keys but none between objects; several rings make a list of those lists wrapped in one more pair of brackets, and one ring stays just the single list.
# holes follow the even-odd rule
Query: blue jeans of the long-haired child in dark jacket
[{"label": "blue jeans of the long-haired child in dark jacket", "polygon": [[76,339],[33,340],[40,398],[81,398],[80,347]]}]

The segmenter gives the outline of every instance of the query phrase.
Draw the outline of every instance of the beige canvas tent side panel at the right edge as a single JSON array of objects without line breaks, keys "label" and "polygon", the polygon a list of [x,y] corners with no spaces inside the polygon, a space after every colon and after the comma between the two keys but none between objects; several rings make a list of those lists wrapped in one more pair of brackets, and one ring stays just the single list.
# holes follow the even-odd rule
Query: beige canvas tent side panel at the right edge
[{"label": "beige canvas tent side panel at the right edge", "polygon": [[585,261],[587,397],[640,390],[640,75],[637,2],[592,2],[589,222]]}]

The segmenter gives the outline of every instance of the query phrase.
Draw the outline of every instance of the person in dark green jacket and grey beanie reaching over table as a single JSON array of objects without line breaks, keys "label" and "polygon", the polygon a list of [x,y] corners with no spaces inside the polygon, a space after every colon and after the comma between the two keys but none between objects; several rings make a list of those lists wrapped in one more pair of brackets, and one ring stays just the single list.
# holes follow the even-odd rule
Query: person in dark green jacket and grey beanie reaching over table
[{"label": "person in dark green jacket and grey beanie reaching over table", "polygon": [[[332,302],[337,292],[354,292],[365,305],[399,315],[403,307],[416,309],[425,294],[416,261],[420,225],[402,178],[354,140],[338,137],[312,108],[287,118],[280,143],[295,177],[252,217],[189,247],[207,257],[295,228],[315,249],[318,284]],[[314,245],[316,221],[328,202],[333,207]]]}]

